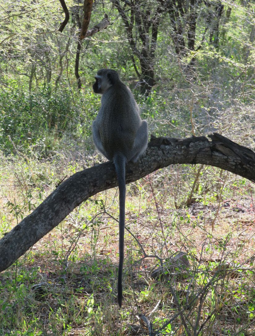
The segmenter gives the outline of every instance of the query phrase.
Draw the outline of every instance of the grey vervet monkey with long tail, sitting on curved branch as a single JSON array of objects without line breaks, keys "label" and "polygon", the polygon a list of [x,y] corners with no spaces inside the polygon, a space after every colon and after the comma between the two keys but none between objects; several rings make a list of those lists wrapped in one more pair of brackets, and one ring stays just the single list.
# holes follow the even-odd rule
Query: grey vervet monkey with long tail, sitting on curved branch
[{"label": "grey vervet monkey with long tail, sitting on curved branch", "polygon": [[126,199],[126,163],[136,162],[146,150],[148,124],[141,120],[139,108],[130,89],[115,70],[101,69],[95,76],[95,93],[102,94],[101,108],[92,124],[97,150],[113,161],[119,183],[119,269],[118,303],[122,304],[122,271]]}]

